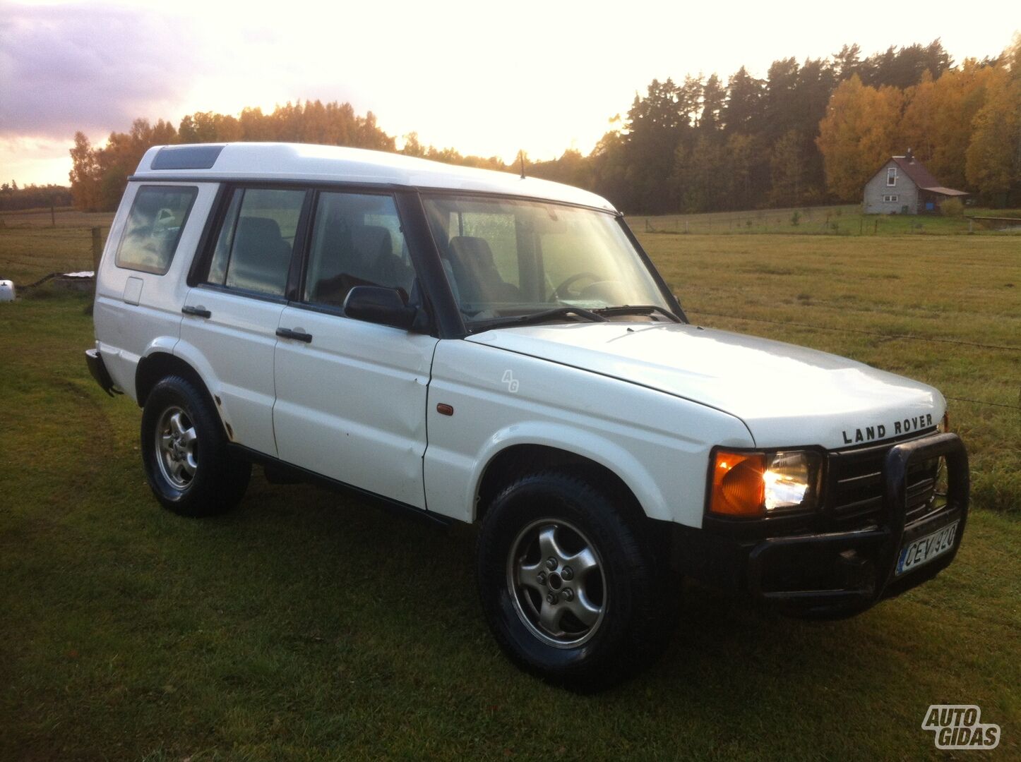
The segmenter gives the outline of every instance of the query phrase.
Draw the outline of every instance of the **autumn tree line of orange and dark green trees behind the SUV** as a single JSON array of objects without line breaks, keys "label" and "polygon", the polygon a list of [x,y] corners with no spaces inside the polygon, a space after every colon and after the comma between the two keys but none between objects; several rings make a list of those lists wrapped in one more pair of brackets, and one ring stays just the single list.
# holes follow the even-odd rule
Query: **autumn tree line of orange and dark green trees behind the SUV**
[{"label": "autumn tree line of orange and dark green trees behind the SUV", "polygon": [[[287,141],[397,151],[376,116],[349,103],[305,101],[270,113],[200,112],[174,124],[136,119],[94,147],[70,151],[75,204],[111,210],[153,145]],[[526,172],[605,196],[629,212],[666,213],[811,205],[861,199],[890,155],[911,147],[945,186],[999,203],[1021,202],[1021,38],[996,57],[955,65],[939,40],[862,56],[776,60],[765,79],[739,68],[653,80],[588,155],[567,150]],[[401,153],[513,170],[498,157],[464,156],[403,136]]]}]

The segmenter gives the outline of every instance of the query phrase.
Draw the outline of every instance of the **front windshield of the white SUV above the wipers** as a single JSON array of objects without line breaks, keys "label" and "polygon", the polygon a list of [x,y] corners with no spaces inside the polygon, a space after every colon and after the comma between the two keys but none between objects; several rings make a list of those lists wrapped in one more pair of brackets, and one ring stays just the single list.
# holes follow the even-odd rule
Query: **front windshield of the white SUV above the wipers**
[{"label": "front windshield of the white SUV above the wipers", "polygon": [[576,319],[558,307],[670,310],[612,214],[504,198],[432,196],[425,206],[470,327],[547,311]]}]

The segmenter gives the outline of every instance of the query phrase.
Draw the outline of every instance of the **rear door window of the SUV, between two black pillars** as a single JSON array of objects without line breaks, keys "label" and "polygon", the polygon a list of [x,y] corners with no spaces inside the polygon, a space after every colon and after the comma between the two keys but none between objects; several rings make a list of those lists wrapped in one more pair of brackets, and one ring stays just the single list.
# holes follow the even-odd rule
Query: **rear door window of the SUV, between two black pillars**
[{"label": "rear door window of the SUV, between two black pillars", "polygon": [[206,282],[283,296],[304,200],[304,191],[236,189]]}]

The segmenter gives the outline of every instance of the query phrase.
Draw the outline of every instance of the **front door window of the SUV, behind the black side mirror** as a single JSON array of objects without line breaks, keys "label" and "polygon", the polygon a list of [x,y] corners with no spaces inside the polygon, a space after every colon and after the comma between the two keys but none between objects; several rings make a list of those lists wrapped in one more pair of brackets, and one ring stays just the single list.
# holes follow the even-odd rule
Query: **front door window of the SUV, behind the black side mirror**
[{"label": "front door window of the SUV, behind the black side mirror", "polygon": [[304,300],[341,307],[355,286],[415,283],[397,207],[390,196],[321,193],[315,205]]}]

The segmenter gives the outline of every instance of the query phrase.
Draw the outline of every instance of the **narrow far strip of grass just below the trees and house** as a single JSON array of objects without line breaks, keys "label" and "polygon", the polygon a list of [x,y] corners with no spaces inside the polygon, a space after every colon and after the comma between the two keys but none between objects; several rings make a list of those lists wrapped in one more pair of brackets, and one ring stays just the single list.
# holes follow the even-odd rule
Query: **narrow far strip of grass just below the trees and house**
[{"label": "narrow far strip of grass just below the trees and house", "polygon": [[[794,214],[797,223],[794,223]],[[966,207],[965,215],[977,217],[1018,217],[1017,209],[983,209]],[[661,216],[629,216],[628,221],[638,233],[742,235],[783,234],[801,236],[955,236],[955,235],[1018,235],[1017,225],[990,222],[970,222],[967,216],[929,214],[863,214],[861,204],[838,206],[791,207],[789,209],[755,209],[751,211],[707,212],[702,214],[667,214]],[[1005,230],[1010,227],[1010,230]]]}]

